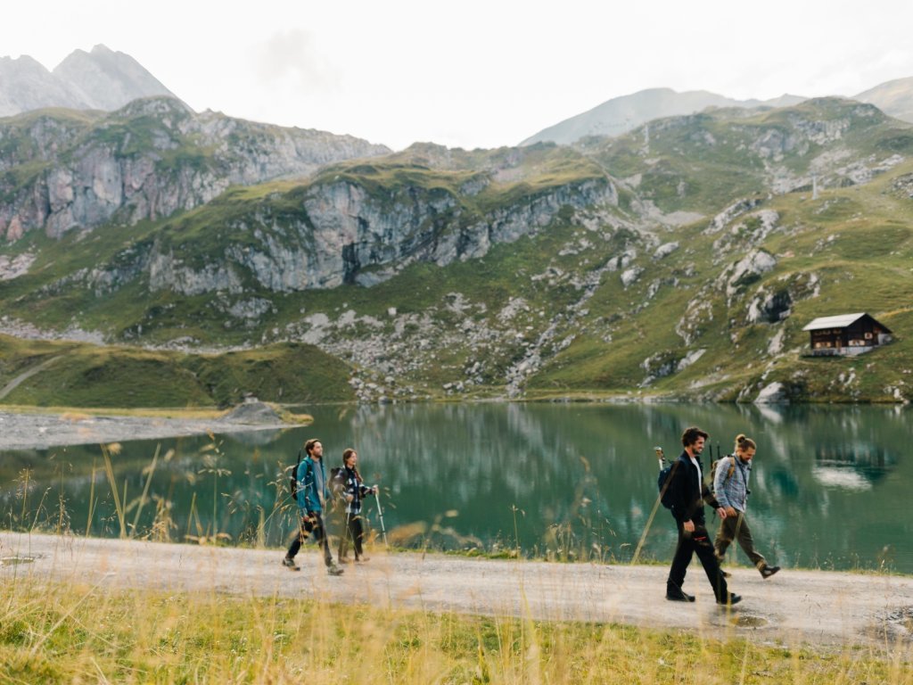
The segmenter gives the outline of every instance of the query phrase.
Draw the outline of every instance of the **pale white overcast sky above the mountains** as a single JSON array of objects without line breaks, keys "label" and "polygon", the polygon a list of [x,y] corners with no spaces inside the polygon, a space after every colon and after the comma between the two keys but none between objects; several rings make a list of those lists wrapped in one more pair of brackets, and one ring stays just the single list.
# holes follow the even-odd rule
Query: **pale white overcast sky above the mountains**
[{"label": "pale white overcast sky above the mountains", "polygon": [[471,149],[660,86],[854,95],[913,76],[910,26],[899,0],[29,0],[0,56],[103,43],[196,111]]}]

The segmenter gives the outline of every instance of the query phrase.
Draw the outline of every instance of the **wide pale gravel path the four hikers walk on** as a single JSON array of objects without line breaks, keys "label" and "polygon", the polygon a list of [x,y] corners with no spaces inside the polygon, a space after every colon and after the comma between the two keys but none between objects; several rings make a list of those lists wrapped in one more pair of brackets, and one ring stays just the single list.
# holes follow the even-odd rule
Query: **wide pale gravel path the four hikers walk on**
[{"label": "wide pale gravel path the four hikers walk on", "polygon": [[[281,550],[249,550],[0,532],[0,583],[16,576],[79,585],[158,588],[240,596],[307,596],[375,606],[467,614],[601,621],[687,628],[702,635],[798,645],[872,643],[913,648],[913,578],[784,569],[762,580],[732,568],[744,597],[731,611],[713,601],[701,569],[686,590],[694,604],[664,598],[665,566],[546,564],[466,559],[443,554],[373,553],[367,564],[328,576],[312,546],[289,572]],[[11,557],[33,558],[14,563]],[[7,585],[9,586],[9,585]]]}]

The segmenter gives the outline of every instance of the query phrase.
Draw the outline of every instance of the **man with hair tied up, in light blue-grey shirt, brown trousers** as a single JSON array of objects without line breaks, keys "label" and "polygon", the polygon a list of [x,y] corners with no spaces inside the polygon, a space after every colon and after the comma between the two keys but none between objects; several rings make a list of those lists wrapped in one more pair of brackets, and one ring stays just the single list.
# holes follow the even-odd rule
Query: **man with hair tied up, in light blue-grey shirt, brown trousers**
[{"label": "man with hair tied up, in light blue-grey shirt, brown trousers", "polygon": [[717,494],[719,506],[726,510],[726,518],[719,522],[719,531],[713,547],[717,558],[722,562],[729,545],[733,540],[738,540],[742,551],[766,579],[777,573],[780,566],[768,564],[764,555],[754,548],[754,539],[751,537],[748,519],[745,518],[751,491],[748,487],[751,459],[754,458],[756,449],[754,440],[740,434],[736,437],[735,453],[719,459],[717,472],[713,476],[713,489]]}]

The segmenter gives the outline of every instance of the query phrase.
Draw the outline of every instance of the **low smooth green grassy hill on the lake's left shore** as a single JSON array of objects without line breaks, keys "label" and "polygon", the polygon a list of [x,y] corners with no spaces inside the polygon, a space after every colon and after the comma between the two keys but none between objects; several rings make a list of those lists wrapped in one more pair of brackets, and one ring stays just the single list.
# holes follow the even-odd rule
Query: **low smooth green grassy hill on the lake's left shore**
[{"label": "low smooth green grassy hill on the lake's left shore", "polygon": [[0,403],[24,406],[234,406],[251,393],[268,402],[352,399],[348,368],[311,345],[187,354],[86,343],[23,341],[0,335]]}]

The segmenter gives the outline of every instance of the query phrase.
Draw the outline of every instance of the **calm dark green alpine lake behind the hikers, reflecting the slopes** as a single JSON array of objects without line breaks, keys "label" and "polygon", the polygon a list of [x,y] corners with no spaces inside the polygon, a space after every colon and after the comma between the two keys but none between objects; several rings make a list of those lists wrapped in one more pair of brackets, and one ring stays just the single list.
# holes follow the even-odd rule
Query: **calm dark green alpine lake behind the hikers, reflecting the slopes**
[{"label": "calm dark green alpine lake behind the hikers, reflecting the slopes", "polygon": [[[309,406],[309,427],[0,452],[12,530],[183,543],[284,546],[297,509],[288,471],[304,441],[324,460],[359,453],[380,486],[375,544],[498,556],[667,562],[676,532],[657,506],[655,447],[710,434],[705,476],[739,433],[758,444],[748,518],[785,568],[913,574],[913,409],[903,406],[415,404]],[[712,457],[710,451],[713,452]],[[380,511],[378,509],[380,504]],[[380,515],[383,513],[383,517]],[[719,521],[708,508],[708,528]],[[339,530],[338,509],[331,533]],[[727,564],[748,564],[733,544]]]}]

